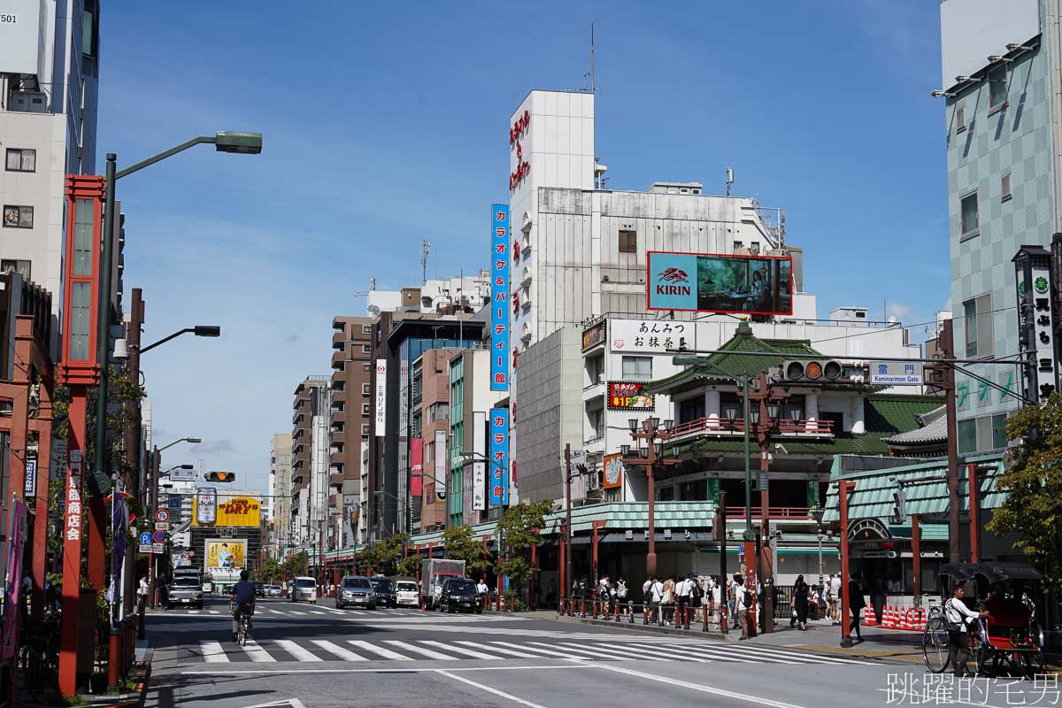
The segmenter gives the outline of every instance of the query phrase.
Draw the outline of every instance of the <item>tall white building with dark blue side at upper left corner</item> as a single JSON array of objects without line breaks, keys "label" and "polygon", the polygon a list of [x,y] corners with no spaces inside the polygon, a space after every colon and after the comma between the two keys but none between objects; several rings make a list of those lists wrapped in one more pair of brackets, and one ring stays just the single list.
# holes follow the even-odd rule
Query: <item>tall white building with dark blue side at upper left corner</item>
[{"label": "tall white building with dark blue side at upper left corner", "polygon": [[[99,0],[5,0],[0,12],[0,267],[52,294],[58,353],[64,177],[96,168]],[[72,218],[72,214],[71,214]]]}]

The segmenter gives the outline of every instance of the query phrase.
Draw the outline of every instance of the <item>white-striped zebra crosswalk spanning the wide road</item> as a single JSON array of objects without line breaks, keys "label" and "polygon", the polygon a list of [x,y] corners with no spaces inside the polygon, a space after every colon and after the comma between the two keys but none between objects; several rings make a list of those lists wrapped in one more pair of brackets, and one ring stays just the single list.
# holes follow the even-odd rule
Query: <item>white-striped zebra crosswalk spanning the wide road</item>
[{"label": "white-striped zebra crosswalk spanning the wide road", "polygon": [[583,661],[654,661],[689,663],[863,663],[874,661],[820,655],[771,646],[739,646],[733,643],[689,641],[639,641],[630,639],[542,638],[510,641],[500,639],[260,639],[245,646],[235,642],[203,640],[200,658],[205,663],[279,663],[323,661],[470,661],[545,659]]}]

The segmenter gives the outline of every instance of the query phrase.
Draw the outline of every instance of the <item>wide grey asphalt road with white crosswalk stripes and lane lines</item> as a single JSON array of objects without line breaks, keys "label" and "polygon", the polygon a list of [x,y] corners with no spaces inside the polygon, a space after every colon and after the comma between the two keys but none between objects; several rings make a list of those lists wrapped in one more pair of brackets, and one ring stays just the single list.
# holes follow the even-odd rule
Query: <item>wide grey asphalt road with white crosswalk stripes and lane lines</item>
[{"label": "wide grey asphalt road with white crosswalk stripes and lane lines", "polygon": [[[227,601],[149,616],[147,708],[1060,705],[1058,691],[952,684],[910,662],[486,614],[260,600],[233,642]],[[950,703],[925,700],[926,691]],[[1004,692],[1006,691],[1006,693]],[[1039,697],[1039,701],[1037,698]],[[1054,698],[1054,703],[1052,703]]]}]

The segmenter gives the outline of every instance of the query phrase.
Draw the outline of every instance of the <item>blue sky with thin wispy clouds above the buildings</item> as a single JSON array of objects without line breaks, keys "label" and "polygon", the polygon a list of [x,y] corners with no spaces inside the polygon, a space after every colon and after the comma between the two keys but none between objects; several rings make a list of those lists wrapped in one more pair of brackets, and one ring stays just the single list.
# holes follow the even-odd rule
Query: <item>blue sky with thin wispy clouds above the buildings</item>
[{"label": "blue sky with thin wispy clouds above the buildings", "polygon": [[[126,291],[167,465],[264,486],[296,383],[330,374],[330,323],[381,289],[482,266],[508,198],[508,119],[575,89],[597,38],[597,153],[613,189],[697,179],[787,211],[820,316],[888,303],[905,324],[948,298],[939,3],[667,5],[112,0],[99,169],[195,135],[263,133],[257,157],[199,148],[119,183]],[[912,334],[921,340],[923,328]],[[242,485],[241,485],[242,486]]]}]

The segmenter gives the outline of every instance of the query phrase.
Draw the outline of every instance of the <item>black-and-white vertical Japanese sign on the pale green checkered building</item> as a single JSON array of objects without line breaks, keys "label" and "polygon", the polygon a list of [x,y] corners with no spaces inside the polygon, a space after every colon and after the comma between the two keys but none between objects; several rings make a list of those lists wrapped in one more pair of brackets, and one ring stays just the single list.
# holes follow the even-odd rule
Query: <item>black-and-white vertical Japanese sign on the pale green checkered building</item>
[{"label": "black-and-white vertical Japanese sign on the pale green checkered building", "polygon": [[[1051,256],[1041,246],[1022,246],[1014,257],[1017,284],[1017,338],[1025,395],[1040,401],[1058,385]],[[978,313],[979,317],[979,313]]]}]

